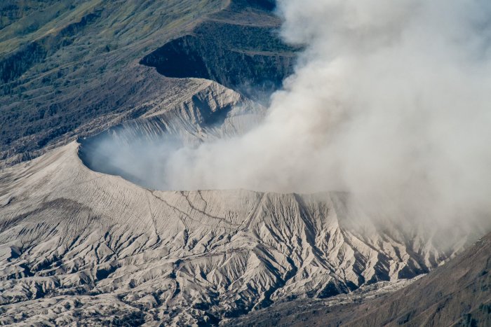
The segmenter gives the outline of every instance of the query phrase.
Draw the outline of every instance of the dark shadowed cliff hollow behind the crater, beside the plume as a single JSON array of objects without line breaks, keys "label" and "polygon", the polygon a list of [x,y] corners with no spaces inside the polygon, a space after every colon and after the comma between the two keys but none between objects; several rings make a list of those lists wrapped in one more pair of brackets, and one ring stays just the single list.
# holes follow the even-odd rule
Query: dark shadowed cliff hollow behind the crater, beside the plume
[{"label": "dark shadowed cliff hollow behind the crater, beside the plume", "polygon": [[168,77],[206,78],[251,96],[279,88],[299,49],[279,39],[281,22],[266,1],[249,2],[232,2],[140,63]]}]

